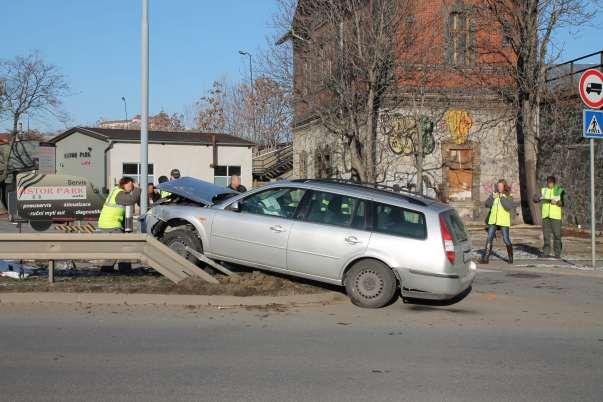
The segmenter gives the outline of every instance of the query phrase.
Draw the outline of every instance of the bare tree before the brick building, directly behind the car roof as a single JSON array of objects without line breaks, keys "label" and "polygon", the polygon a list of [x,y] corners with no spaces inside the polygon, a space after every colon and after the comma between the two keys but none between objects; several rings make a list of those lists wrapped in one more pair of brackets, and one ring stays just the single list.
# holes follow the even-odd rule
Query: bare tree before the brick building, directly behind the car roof
[{"label": "bare tree before the brick building, directly behind the car roof", "polygon": [[298,6],[296,60],[304,77],[295,88],[350,161],[351,176],[375,182],[379,111],[397,85],[401,19],[410,2],[317,0]]}]

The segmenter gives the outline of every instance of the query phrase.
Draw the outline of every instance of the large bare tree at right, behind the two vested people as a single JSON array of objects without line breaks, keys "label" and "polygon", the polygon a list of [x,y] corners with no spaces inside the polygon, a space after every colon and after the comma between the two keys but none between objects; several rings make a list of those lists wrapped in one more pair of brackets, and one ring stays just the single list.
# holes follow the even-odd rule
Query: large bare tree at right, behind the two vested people
[{"label": "large bare tree at right, behind the two vested people", "polygon": [[[539,223],[538,206],[531,202],[538,191],[540,105],[547,85],[545,70],[555,59],[554,33],[577,28],[593,16],[595,1],[588,0],[486,0],[483,21],[499,27],[510,52],[498,49],[509,66],[515,93],[511,101],[516,121],[523,219]],[[497,49],[480,49],[493,52]],[[507,94],[509,95],[509,94]]]}]

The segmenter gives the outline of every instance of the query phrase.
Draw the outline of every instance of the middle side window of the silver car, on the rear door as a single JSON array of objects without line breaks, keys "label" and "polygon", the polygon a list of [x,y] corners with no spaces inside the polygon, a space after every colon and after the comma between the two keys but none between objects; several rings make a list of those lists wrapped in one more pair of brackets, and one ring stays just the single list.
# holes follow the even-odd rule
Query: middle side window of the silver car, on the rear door
[{"label": "middle side window of the silver car, on the rear door", "polygon": [[340,194],[313,191],[308,198],[305,221],[364,229],[367,201]]}]

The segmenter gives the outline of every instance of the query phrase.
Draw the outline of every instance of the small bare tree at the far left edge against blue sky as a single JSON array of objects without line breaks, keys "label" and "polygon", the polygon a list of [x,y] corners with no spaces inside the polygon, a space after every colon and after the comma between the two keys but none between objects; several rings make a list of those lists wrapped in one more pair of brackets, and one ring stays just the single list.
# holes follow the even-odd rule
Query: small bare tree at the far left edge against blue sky
[{"label": "small bare tree at the far left edge against blue sky", "polygon": [[38,53],[0,62],[0,81],[3,82],[0,103],[12,125],[9,146],[2,155],[5,163],[0,182],[3,182],[8,175],[6,162],[10,158],[22,116],[65,119],[62,98],[69,93],[69,85],[57,67],[46,63]]}]

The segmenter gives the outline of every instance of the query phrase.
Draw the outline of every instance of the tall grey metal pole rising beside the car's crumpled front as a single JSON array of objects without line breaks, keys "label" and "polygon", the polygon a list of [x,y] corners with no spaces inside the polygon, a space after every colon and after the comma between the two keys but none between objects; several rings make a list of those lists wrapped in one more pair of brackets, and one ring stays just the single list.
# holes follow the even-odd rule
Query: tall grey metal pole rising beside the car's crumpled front
[{"label": "tall grey metal pole rising beside the car's crumpled front", "polygon": [[140,216],[148,207],[149,181],[149,0],[142,0],[141,85],[140,85]]}]

